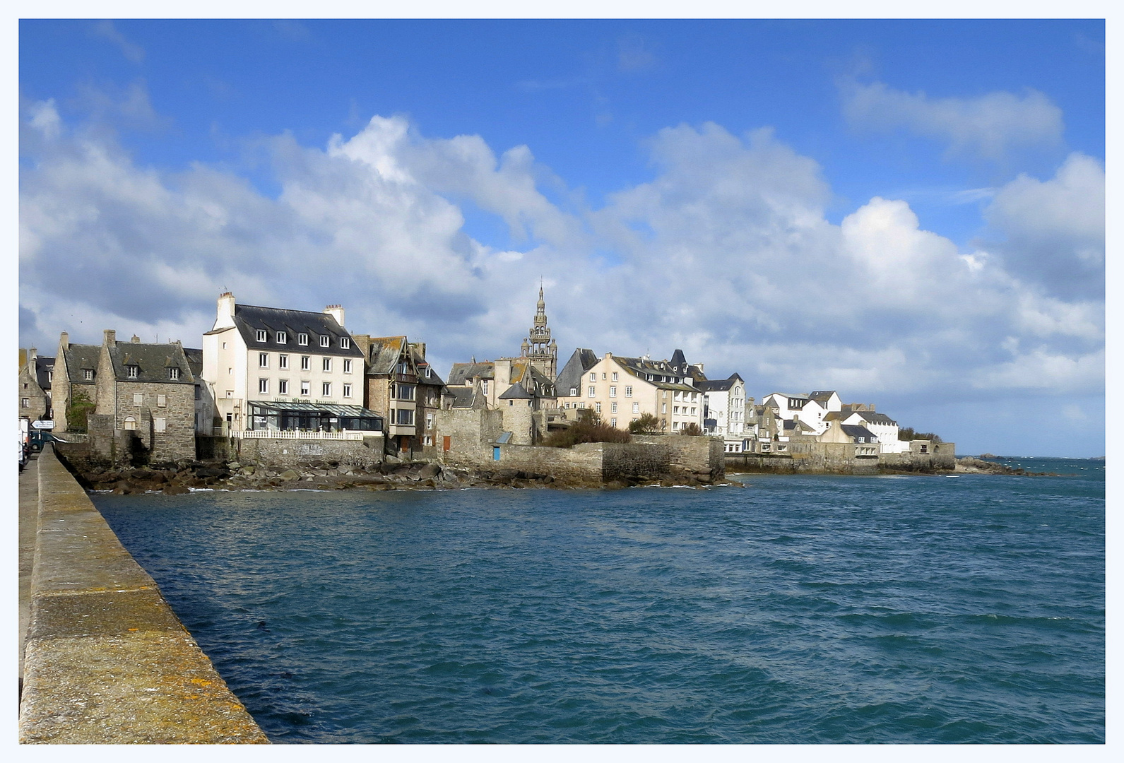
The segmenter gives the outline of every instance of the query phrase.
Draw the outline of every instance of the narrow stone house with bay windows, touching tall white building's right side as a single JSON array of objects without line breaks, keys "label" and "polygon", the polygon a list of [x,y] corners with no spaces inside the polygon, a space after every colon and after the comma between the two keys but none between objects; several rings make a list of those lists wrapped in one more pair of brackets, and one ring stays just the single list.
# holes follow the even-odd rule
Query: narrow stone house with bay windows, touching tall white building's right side
[{"label": "narrow stone house with bay windows, touching tall white building's right side", "polygon": [[363,405],[386,412],[387,447],[409,456],[435,453],[445,382],[426,360],[425,343],[406,336],[354,338],[363,357]]}]

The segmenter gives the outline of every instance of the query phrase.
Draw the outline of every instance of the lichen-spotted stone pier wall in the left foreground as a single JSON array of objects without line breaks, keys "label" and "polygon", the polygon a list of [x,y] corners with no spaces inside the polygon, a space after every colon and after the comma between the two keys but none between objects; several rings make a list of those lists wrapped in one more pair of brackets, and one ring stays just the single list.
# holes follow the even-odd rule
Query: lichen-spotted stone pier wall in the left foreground
[{"label": "lichen-spotted stone pier wall in the left foreground", "polygon": [[20,546],[21,743],[269,743],[49,445],[20,475]]}]

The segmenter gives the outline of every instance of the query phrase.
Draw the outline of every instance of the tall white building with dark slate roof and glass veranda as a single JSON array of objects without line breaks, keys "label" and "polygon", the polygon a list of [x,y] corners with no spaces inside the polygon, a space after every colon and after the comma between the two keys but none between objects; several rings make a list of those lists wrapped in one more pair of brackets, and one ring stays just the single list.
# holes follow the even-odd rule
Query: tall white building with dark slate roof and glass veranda
[{"label": "tall white building with dark slate roof and glass veranda", "polygon": [[236,305],[226,292],[202,355],[227,432],[383,429],[383,418],[363,408],[363,353],[338,305],[283,310]]}]

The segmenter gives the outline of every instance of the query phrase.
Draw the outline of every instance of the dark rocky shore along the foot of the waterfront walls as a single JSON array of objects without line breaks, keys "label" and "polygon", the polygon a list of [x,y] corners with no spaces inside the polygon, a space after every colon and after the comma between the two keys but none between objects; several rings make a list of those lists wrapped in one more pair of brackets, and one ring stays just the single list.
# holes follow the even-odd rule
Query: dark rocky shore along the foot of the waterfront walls
[{"label": "dark rocky shore along the foot of the waterfront walls", "polygon": [[72,471],[87,490],[118,496],[161,492],[179,496],[192,489],[211,490],[457,490],[464,488],[606,488],[640,484],[664,487],[741,485],[706,475],[682,475],[663,480],[615,480],[611,482],[556,480],[549,474],[520,471],[454,469],[432,462],[401,462],[392,456],[378,470],[364,471],[337,462],[312,462],[301,469],[271,469],[237,462],[181,462],[137,469],[114,469],[98,464],[75,464]]}]

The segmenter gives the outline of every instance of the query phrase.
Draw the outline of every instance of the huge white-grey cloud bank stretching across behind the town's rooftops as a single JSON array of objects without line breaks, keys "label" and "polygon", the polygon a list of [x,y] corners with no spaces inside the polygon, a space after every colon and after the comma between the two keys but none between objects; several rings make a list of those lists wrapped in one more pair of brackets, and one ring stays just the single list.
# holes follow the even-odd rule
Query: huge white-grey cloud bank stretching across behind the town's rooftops
[{"label": "huge white-grey cloud bank stretching across behind the town's rooftops", "polygon": [[[28,119],[49,112],[37,108]],[[137,166],[106,135],[57,121],[21,174],[30,344],[102,328],[198,343],[232,289],[260,305],[342,302],[353,330],[408,333],[447,367],[516,352],[543,276],[564,355],[681,347],[759,393],[1103,384],[1103,301],[1042,294],[1000,258],[924,230],[901,200],[828,222],[818,165],[769,130],[663,129],[651,181],[588,210],[529,148],[427,138],[401,117],[323,148],[273,138],[277,199],[229,171]],[[1053,196],[1081,187],[1082,167],[1060,171]],[[466,201],[515,244],[468,235]]]}]

